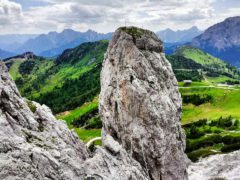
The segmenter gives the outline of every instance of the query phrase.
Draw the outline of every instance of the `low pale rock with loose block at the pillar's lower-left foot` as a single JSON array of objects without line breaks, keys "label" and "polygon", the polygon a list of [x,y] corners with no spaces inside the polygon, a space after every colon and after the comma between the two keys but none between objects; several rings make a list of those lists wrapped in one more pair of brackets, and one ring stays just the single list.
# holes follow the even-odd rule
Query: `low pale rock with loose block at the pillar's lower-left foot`
[{"label": "low pale rock with loose block at the pillar's lower-left foot", "polygon": [[104,180],[150,179],[140,163],[111,136],[106,135],[104,144],[105,147],[98,147],[93,158],[85,162],[86,174],[97,174]]}]

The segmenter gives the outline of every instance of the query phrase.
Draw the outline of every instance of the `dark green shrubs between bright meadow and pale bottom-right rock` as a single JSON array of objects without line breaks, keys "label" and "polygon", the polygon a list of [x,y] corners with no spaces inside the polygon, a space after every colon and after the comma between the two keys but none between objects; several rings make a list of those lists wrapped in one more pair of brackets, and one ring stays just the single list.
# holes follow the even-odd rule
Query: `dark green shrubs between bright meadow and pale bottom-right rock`
[{"label": "dark green shrubs between bright meadow and pale bottom-right rock", "polygon": [[192,161],[212,154],[240,149],[239,120],[231,116],[208,121],[202,119],[184,125],[187,136],[186,153]]}]

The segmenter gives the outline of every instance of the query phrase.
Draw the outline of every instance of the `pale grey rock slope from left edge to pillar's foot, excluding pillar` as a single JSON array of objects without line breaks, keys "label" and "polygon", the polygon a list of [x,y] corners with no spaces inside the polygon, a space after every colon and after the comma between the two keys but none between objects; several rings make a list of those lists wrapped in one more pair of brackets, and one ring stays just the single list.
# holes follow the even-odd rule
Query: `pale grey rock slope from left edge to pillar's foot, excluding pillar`
[{"label": "pale grey rock slope from left edge to pillar's foot, excluding pillar", "polygon": [[98,147],[90,158],[64,121],[20,96],[0,62],[0,179],[82,180],[97,174],[104,180],[147,180],[141,165],[107,137],[106,148]]}]

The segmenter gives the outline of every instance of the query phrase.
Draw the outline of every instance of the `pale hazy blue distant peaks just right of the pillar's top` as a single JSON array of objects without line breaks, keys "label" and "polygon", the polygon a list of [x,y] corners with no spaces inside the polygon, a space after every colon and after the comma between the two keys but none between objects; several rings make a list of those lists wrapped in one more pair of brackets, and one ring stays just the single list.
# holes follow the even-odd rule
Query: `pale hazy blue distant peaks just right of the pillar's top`
[{"label": "pale hazy blue distant peaks just right of the pillar's top", "polygon": [[183,43],[191,42],[192,39],[202,33],[196,26],[190,29],[173,31],[172,29],[165,29],[158,31],[158,37],[165,43]]}]

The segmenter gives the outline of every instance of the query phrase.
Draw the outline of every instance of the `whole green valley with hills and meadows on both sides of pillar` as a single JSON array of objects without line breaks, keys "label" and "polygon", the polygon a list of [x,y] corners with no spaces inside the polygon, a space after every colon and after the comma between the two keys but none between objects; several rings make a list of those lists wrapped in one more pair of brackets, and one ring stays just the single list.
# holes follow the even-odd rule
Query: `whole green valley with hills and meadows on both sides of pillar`
[{"label": "whole green valley with hills and meadows on both sides of pillar", "polygon": [[[87,143],[101,135],[99,78],[107,45],[108,41],[83,43],[56,59],[33,56],[9,59],[5,63],[23,96],[47,104],[57,119],[66,121]],[[196,161],[240,149],[240,71],[190,46],[178,48],[167,58],[179,81],[183,100],[181,121],[187,134],[189,158]],[[221,124],[225,120],[226,127]],[[193,134],[198,135],[192,137]],[[233,140],[225,144],[226,138]]]}]

